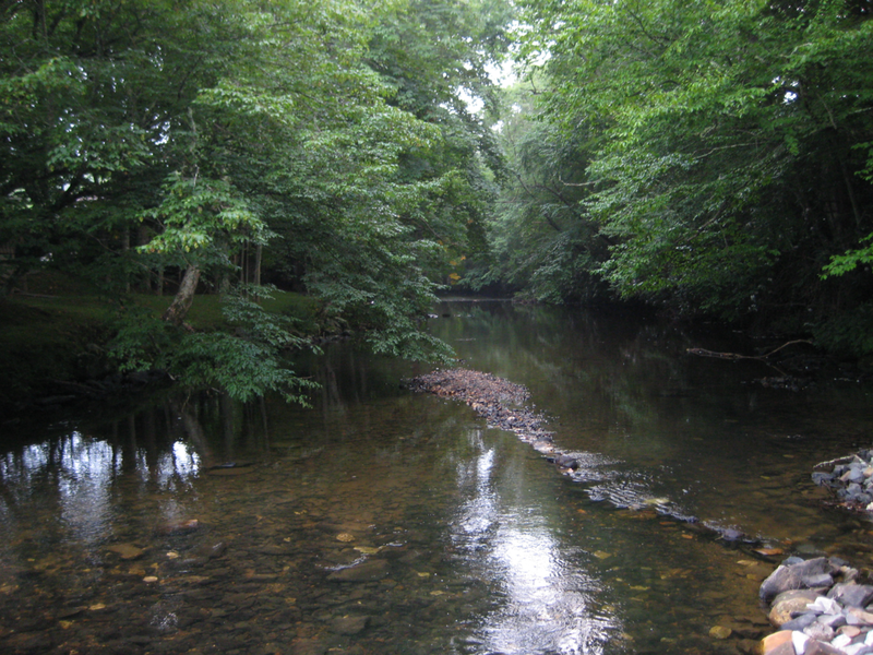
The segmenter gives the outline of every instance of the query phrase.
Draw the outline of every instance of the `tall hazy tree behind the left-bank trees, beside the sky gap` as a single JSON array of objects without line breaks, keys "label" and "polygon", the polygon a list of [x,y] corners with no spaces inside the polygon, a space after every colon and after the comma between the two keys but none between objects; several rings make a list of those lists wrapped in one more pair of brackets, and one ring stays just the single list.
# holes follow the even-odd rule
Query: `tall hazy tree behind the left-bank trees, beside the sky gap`
[{"label": "tall hazy tree behind the left-bank trees, beside the sky gap", "polygon": [[512,19],[505,0],[409,0],[370,39],[367,61],[393,90],[388,103],[439,129],[432,147],[400,155],[398,181],[423,193],[399,217],[440,246],[426,263],[444,282],[488,249],[494,181],[505,174],[491,130],[500,111],[492,73],[509,51]]}]

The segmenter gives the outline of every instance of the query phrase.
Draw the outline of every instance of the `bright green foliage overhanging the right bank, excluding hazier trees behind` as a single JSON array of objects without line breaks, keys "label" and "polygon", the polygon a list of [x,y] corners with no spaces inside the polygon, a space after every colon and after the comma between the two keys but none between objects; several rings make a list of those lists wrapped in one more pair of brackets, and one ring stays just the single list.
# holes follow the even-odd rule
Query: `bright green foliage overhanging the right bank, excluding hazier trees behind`
[{"label": "bright green foliage overhanging the right bank, excluding hazier trees behind", "polygon": [[521,4],[543,119],[587,144],[581,212],[621,296],[796,327],[869,297],[818,281],[869,258],[851,249],[873,228],[865,3]]}]

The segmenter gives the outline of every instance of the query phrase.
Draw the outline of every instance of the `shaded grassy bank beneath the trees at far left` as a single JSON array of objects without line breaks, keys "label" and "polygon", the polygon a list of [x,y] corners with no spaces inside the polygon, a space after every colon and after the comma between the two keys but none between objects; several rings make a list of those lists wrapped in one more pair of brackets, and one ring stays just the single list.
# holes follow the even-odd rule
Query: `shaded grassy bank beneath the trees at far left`
[{"label": "shaded grassy bank beneath the trees at far left", "polygon": [[[133,295],[127,307],[142,307],[159,317],[171,300]],[[302,334],[319,331],[319,303],[312,298],[277,291],[264,307],[298,319]],[[107,345],[120,310],[88,295],[15,295],[0,300],[0,409],[50,395],[60,386],[57,381],[83,382],[111,374]],[[222,329],[220,298],[198,296],[188,322],[195,330]]]}]

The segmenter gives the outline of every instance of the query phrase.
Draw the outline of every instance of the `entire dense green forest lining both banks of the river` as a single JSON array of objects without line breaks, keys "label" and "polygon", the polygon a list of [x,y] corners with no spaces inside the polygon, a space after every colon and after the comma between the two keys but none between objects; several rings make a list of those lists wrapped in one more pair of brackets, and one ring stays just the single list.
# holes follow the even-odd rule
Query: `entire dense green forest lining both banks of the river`
[{"label": "entire dense green forest lining both banks of the river", "polygon": [[[122,370],[243,398],[302,383],[271,289],[403,357],[451,355],[422,322],[449,288],[871,355],[871,10],[0,2],[0,307],[75,279]],[[204,294],[229,329],[187,324]]]}]

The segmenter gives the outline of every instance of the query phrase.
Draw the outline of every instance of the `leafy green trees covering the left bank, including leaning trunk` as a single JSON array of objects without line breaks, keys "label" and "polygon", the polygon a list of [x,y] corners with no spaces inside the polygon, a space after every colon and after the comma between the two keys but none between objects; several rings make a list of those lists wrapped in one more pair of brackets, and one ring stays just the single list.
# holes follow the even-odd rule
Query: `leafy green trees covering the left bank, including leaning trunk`
[{"label": "leafy green trees covering the left bank, including leaning trunk", "polygon": [[[222,361],[246,357],[280,367],[251,348],[290,343],[239,325],[242,341],[183,327],[198,286],[246,278],[254,250],[259,271],[263,253],[267,277],[302,284],[327,318],[366,332],[376,350],[447,356],[421,329],[439,282],[426,269],[449,259],[440,240],[466,243],[475,231],[469,144],[481,141],[453,142],[449,126],[485,132],[469,116],[433,121],[411,110],[374,70],[381,22],[406,25],[407,10],[356,0],[3,4],[0,242],[16,249],[7,287],[53,267],[117,300],[131,278],[159,287],[164,271],[178,271],[168,325],[137,314],[116,352],[122,366],[165,365],[218,383],[204,377],[204,361],[227,376],[235,366]],[[490,55],[462,43],[427,71],[407,72],[432,82],[440,66],[466,70],[466,58],[478,75]],[[420,92],[422,100],[439,92],[429,98],[436,108],[458,86]],[[465,140],[466,150],[455,147]],[[416,172],[414,162],[431,169]],[[252,390],[227,376],[223,386]]]}]

